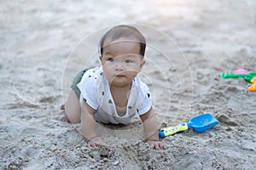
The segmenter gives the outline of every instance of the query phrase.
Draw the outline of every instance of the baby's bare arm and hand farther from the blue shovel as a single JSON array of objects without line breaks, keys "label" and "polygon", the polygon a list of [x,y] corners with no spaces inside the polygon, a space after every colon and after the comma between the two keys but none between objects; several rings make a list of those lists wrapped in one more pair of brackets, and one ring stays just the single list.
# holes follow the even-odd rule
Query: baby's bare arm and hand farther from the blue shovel
[{"label": "baby's bare arm and hand farther from the blue shovel", "polygon": [[96,110],[91,108],[86,101],[83,101],[81,111],[82,133],[85,141],[87,141],[87,146],[96,147],[102,144],[102,139],[96,134]]}]

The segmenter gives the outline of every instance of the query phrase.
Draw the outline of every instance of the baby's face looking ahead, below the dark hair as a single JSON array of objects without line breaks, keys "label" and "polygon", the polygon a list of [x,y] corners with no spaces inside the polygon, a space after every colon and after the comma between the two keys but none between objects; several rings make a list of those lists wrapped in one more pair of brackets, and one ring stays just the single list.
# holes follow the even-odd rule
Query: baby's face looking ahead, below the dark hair
[{"label": "baby's face looking ahead, below the dark hair", "polygon": [[102,67],[111,86],[125,87],[131,85],[131,80],[141,71],[145,60],[140,55],[138,42],[111,42],[103,48]]}]

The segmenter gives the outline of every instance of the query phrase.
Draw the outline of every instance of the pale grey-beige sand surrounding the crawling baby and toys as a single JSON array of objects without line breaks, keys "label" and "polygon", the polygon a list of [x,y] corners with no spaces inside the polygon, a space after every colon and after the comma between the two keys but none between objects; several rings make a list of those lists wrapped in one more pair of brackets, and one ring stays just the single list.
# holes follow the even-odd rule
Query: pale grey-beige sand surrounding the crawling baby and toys
[{"label": "pale grey-beige sand surrounding the crawling baby and toys", "polygon": [[[254,169],[255,92],[218,76],[256,71],[255,11],[253,0],[2,1],[0,169]],[[220,123],[167,137],[160,151],[143,142],[141,122],[99,124],[106,145],[87,148],[60,106],[73,76],[99,64],[102,33],[135,23],[160,127],[203,113]]]}]

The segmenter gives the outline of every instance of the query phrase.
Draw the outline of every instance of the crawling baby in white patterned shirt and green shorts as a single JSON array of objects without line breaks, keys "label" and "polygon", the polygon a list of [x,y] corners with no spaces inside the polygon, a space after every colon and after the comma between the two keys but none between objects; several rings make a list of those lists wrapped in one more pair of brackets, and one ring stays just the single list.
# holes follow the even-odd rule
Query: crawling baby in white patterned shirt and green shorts
[{"label": "crawling baby in white patterned shirt and green shorts", "polygon": [[96,122],[129,124],[137,114],[148,144],[163,150],[148,87],[137,76],[145,65],[145,48],[145,38],[135,27],[115,26],[100,41],[101,65],[74,78],[61,109],[68,122],[81,122],[87,146],[103,144]]}]

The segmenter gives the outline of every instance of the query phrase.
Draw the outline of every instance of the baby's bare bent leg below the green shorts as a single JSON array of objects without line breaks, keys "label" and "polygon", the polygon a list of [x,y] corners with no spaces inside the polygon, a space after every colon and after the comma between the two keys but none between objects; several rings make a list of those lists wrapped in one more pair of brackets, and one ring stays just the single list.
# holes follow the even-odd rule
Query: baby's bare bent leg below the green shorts
[{"label": "baby's bare bent leg below the green shorts", "polygon": [[73,89],[68,95],[67,102],[65,104],[65,112],[67,122],[80,122],[81,106],[79,98]]}]

